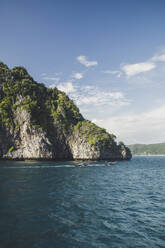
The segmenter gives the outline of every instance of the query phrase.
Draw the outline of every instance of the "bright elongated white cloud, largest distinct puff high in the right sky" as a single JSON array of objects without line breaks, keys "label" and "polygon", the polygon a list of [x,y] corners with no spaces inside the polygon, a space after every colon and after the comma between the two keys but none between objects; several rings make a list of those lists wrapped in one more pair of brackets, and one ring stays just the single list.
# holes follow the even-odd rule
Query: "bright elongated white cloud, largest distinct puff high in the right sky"
[{"label": "bright elongated white cloud, largest distinct puff high in the right sky", "polygon": [[121,67],[128,77],[135,76],[142,72],[151,71],[156,67],[155,63],[142,62],[137,64],[127,64]]}]

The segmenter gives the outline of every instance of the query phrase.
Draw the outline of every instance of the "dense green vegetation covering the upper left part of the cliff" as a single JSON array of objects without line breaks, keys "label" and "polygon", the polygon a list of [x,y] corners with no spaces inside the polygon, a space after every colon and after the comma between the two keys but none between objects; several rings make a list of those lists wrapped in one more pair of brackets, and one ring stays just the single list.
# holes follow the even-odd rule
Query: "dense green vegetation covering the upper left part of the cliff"
[{"label": "dense green vegetation covering the upper left part of the cliff", "polygon": [[79,109],[68,96],[57,88],[49,89],[33,80],[23,67],[9,70],[0,63],[0,121],[15,128],[14,111],[27,110],[36,127],[51,131],[61,124],[67,130],[83,120]]}]

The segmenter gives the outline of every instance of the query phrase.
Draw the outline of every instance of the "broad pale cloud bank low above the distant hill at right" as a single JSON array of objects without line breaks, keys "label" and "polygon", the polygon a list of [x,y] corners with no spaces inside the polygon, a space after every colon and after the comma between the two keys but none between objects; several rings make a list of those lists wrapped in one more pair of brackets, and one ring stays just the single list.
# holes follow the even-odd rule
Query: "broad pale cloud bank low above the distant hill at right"
[{"label": "broad pale cloud bank low above the distant hill at right", "polygon": [[165,105],[162,105],[142,113],[127,113],[95,120],[95,123],[114,133],[118,140],[127,144],[159,143],[165,141],[164,113]]}]

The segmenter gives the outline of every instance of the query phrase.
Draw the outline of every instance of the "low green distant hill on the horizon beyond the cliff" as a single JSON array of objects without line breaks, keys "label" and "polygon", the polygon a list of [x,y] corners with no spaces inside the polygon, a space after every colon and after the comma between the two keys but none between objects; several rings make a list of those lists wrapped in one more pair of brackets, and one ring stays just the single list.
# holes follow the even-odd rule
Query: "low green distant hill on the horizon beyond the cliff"
[{"label": "low green distant hill on the horizon beyond the cliff", "polygon": [[165,155],[165,143],[128,145],[132,155]]}]

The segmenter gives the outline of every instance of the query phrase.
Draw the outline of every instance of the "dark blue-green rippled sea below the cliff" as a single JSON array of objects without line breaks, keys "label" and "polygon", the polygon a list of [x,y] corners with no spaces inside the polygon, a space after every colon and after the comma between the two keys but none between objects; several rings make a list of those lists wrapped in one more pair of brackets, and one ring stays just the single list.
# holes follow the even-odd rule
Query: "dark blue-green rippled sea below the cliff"
[{"label": "dark blue-green rippled sea below the cliff", "polygon": [[0,248],[165,247],[165,157],[72,164],[0,163]]}]

